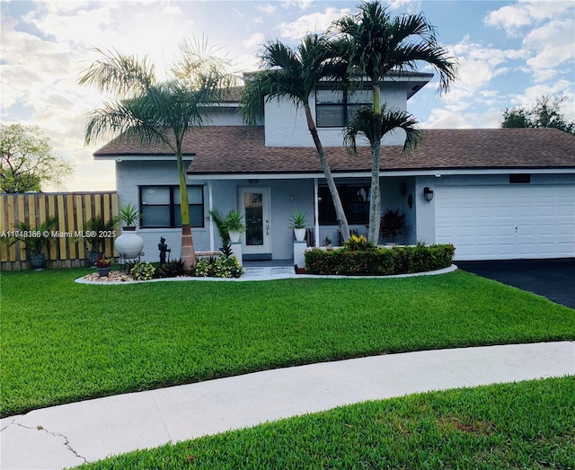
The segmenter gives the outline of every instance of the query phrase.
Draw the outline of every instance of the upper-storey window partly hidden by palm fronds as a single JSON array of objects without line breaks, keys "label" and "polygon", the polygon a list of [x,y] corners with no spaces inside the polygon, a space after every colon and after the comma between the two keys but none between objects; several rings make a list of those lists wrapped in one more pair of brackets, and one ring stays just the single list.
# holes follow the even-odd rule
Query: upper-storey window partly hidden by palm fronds
[{"label": "upper-storey window partly hidden by palm fronds", "polygon": [[318,128],[342,128],[355,111],[373,103],[373,92],[318,88],[315,91],[315,120]]}]

